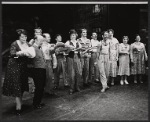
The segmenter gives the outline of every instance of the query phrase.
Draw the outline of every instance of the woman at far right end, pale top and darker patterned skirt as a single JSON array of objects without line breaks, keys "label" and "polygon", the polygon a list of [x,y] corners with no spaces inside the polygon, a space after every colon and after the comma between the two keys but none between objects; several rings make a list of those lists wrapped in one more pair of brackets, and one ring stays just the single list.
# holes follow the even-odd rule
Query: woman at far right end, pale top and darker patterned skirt
[{"label": "woman at far right end, pale top and darker patterned skirt", "polygon": [[134,83],[137,83],[137,75],[139,75],[140,83],[142,81],[142,75],[145,74],[145,61],[148,60],[148,56],[145,50],[145,45],[140,42],[140,35],[136,35],[136,41],[131,44],[131,74],[134,75]]}]

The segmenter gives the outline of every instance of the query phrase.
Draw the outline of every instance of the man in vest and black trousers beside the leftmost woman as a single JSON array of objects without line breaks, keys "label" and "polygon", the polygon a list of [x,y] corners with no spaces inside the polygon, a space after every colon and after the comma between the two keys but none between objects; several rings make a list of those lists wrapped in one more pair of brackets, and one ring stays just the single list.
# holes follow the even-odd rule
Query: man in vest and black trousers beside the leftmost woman
[{"label": "man in vest and black trousers beside the leftmost woman", "polygon": [[35,84],[35,92],[33,98],[33,107],[42,108],[42,97],[46,80],[46,62],[40,46],[43,42],[43,37],[37,35],[33,44],[35,57],[33,58],[33,80]]}]

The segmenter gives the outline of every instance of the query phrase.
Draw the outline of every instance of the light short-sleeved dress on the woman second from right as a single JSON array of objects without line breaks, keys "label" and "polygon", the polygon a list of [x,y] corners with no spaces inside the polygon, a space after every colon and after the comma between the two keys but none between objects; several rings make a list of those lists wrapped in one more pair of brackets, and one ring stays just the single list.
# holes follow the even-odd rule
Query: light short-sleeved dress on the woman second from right
[{"label": "light short-sleeved dress on the woman second from right", "polygon": [[[123,53],[123,52],[128,52],[127,53]],[[130,57],[129,57],[129,53],[130,53],[130,46],[124,45],[123,43],[121,43],[119,45],[119,70],[118,70],[118,75],[122,76],[122,75],[130,75]]]}]

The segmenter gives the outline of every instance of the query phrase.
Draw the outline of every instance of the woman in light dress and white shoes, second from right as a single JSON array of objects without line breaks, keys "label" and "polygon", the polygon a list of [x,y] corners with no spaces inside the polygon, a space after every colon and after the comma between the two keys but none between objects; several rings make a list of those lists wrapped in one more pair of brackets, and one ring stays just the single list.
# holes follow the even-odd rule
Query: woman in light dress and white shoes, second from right
[{"label": "woman in light dress and white shoes, second from right", "polygon": [[130,75],[130,46],[128,43],[128,36],[123,36],[123,43],[119,45],[119,70],[118,75],[121,76],[120,84],[129,84],[127,81],[127,76]]}]

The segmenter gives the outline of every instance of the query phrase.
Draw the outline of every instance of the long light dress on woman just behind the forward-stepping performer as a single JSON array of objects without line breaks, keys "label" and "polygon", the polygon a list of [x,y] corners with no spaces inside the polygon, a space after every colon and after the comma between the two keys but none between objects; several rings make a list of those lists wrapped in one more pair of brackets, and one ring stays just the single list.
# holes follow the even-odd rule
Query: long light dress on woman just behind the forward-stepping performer
[{"label": "long light dress on woman just behind the forward-stepping performer", "polygon": [[110,41],[110,76],[116,77],[118,72],[117,56],[118,56],[118,40],[116,38],[109,39]]}]

